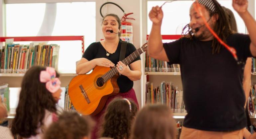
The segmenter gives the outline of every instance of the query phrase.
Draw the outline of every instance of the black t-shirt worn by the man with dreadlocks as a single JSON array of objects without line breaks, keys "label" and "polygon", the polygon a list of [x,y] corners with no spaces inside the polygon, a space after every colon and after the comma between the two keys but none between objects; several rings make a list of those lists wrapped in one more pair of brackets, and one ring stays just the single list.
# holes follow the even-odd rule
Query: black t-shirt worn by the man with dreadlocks
[{"label": "black t-shirt worn by the man with dreadlocks", "polygon": [[243,69],[250,53],[250,38],[232,34],[227,44],[236,49],[237,64],[232,54],[221,48],[212,54],[212,41],[181,38],[164,43],[170,64],[181,65],[183,97],[188,112],[184,126],[207,131],[234,131],[246,126]]}]

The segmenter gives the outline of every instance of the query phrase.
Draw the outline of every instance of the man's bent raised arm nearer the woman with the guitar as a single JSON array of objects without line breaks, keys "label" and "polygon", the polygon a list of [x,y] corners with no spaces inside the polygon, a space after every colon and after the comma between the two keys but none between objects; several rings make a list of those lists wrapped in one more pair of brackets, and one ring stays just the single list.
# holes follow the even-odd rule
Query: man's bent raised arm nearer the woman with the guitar
[{"label": "man's bent raised arm nearer the woman with the guitar", "polygon": [[149,19],[152,21],[152,28],[148,38],[148,54],[152,58],[169,62],[163,47],[161,36],[161,25],[163,20],[162,8],[159,6],[152,7],[149,12]]}]

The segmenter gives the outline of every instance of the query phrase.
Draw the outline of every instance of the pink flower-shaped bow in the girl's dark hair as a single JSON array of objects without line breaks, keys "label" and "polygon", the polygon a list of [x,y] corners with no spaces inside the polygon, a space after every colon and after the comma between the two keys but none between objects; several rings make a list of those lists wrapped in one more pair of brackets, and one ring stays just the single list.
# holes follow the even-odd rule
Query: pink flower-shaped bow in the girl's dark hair
[{"label": "pink flower-shaped bow in the girl's dark hair", "polygon": [[46,88],[51,93],[54,93],[61,88],[61,81],[59,78],[56,78],[54,68],[47,67],[46,70],[41,71],[40,81],[46,83]]}]

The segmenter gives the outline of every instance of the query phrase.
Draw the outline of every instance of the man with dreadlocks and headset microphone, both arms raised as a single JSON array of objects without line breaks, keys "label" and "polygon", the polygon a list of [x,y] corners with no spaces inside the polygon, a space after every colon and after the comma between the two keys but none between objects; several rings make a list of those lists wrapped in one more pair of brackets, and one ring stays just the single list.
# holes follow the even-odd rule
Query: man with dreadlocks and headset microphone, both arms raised
[{"label": "man with dreadlocks and headset microphone, both arms raised", "polygon": [[[190,23],[183,29],[183,37],[170,43],[162,43],[161,7],[153,7],[149,13],[153,22],[149,56],[181,65],[188,112],[181,139],[242,139],[246,126],[243,69],[246,59],[256,56],[256,22],[247,10],[247,0],[233,0],[232,5],[249,35],[230,29],[227,15],[216,0],[196,0],[190,8]],[[238,62],[214,38],[205,21],[236,50]]]}]

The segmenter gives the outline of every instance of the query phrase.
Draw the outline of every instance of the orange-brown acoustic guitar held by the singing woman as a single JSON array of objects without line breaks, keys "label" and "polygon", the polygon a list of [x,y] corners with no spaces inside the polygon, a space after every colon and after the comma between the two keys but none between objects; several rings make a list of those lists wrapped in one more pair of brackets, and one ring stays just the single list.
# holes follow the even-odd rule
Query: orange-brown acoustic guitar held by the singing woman
[{"label": "orange-brown acoustic guitar held by the singing woman", "polygon": [[[147,43],[122,60],[122,63],[130,64],[145,51]],[[100,66],[96,66],[90,74],[75,76],[68,85],[68,95],[75,110],[82,115],[98,114],[107,98],[119,93],[118,77],[116,67]]]}]

